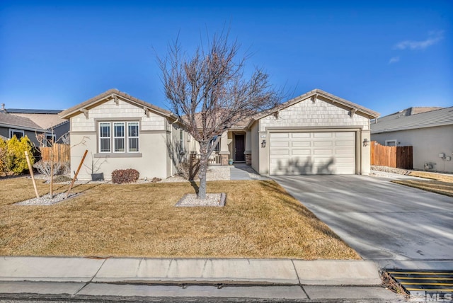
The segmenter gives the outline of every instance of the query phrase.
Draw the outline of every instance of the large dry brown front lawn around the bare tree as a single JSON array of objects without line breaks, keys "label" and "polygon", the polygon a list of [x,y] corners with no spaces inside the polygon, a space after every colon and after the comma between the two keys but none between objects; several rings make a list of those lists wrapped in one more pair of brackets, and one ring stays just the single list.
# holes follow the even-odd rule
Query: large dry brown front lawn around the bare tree
[{"label": "large dry brown front lawn around the bare tree", "polygon": [[84,194],[50,206],[12,205],[33,198],[31,181],[0,180],[0,255],[360,258],[273,181],[209,182],[208,192],[226,193],[226,207],[174,207],[194,193],[189,183],[74,191]]}]

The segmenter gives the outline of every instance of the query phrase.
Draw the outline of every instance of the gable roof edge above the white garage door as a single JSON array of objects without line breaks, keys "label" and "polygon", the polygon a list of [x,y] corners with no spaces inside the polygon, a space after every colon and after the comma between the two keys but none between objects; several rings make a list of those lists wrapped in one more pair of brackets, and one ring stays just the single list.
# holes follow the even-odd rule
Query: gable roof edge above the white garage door
[{"label": "gable roof edge above the white garage door", "polygon": [[320,100],[324,101],[330,101],[331,103],[338,103],[338,105],[343,106],[345,108],[349,108],[350,110],[355,110],[355,113],[362,113],[362,115],[365,115],[369,119],[374,119],[379,117],[379,113],[375,112],[374,110],[370,110],[369,108],[364,108],[361,105],[358,105],[356,103],[352,103],[348,100],[345,100],[343,98],[340,98],[338,96],[334,96],[331,93],[328,93],[326,91],[323,91],[319,88],[316,88],[312,91],[309,91],[308,93],[304,93],[301,96],[298,96],[296,98],[292,98],[291,100],[282,103],[280,105],[275,106],[275,108],[271,108],[270,110],[266,110],[263,113],[259,113],[258,115],[254,116],[251,118],[251,120],[248,122],[248,127],[251,127],[253,122],[256,120],[260,120],[262,118],[267,117],[268,115],[273,115],[279,110],[289,108],[289,106],[292,106],[296,103],[299,103],[301,101],[304,101],[308,98],[319,98]]}]

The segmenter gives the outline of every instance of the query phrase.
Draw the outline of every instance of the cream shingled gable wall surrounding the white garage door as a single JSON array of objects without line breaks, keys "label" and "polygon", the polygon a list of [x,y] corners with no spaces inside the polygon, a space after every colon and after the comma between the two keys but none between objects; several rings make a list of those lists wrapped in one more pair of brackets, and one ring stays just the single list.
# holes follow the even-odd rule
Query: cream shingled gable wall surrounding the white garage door
[{"label": "cream shingled gable wall surrounding the white garage door", "polygon": [[[268,115],[258,120],[257,130],[253,130],[252,167],[260,174],[269,174],[269,133],[273,131],[311,131],[316,130],[352,130],[356,132],[356,173],[369,174],[370,151],[369,146],[364,147],[363,139],[370,139],[369,118],[355,113],[350,116],[350,110],[324,101],[320,98],[316,102],[306,99],[299,103],[280,110],[278,115]],[[253,126],[255,126],[255,124]],[[259,130],[259,131],[258,131]],[[265,148],[260,147],[260,142],[265,139]],[[257,147],[258,145],[258,147]],[[258,151],[258,154],[256,152]],[[258,164],[253,161],[258,159]],[[258,166],[258,169],[257,169]]]}]

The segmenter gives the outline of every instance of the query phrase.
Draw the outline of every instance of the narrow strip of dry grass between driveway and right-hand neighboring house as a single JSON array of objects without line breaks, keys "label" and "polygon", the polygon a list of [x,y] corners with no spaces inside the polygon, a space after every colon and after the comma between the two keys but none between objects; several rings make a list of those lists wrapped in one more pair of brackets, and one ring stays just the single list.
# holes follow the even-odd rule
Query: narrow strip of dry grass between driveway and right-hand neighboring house
[{"label": "narrow strip of dry grass between driveway and right-hand neighboring house", "polygon": [[428,178],[431,180],[396,180],[393,182],[453,197],[453,176],[430,173],[428,171],[411,171],[409,176]]}]

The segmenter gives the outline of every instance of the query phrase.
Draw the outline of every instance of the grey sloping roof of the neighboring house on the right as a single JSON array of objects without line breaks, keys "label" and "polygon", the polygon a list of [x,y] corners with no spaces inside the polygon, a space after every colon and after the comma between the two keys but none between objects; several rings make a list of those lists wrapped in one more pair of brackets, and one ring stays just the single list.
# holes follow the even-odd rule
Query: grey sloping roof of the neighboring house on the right
[{"label": "grey sloping roof of the neighboring house on the right", "polygon": [[381,132],[414,130],[442,125],[453,125],[453,107],[440,108],[413,115],[400,114],[400,112],[387,115],[372,122],[371,133],[379,134]]}]

